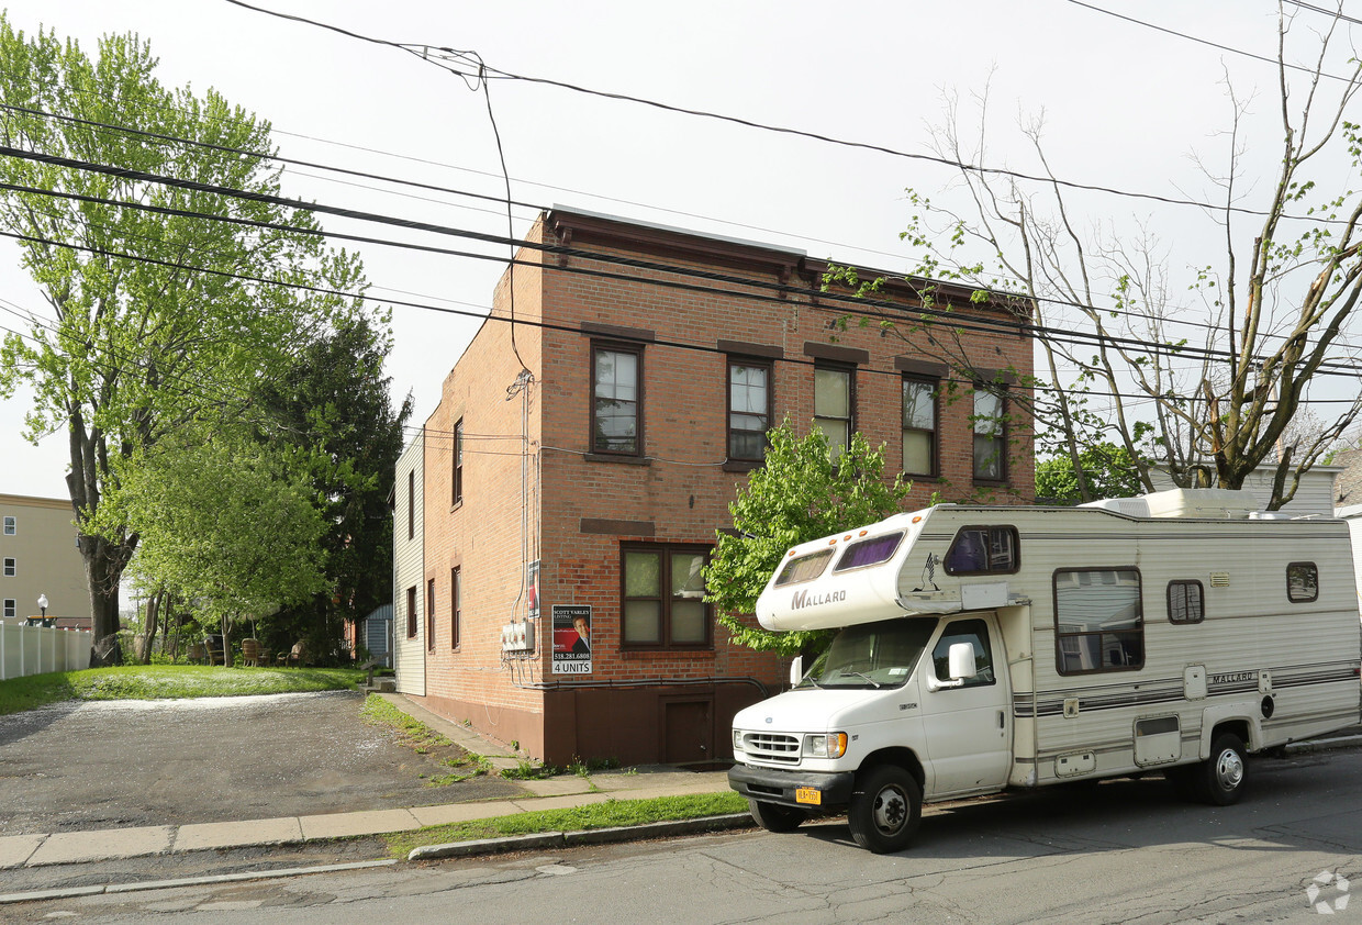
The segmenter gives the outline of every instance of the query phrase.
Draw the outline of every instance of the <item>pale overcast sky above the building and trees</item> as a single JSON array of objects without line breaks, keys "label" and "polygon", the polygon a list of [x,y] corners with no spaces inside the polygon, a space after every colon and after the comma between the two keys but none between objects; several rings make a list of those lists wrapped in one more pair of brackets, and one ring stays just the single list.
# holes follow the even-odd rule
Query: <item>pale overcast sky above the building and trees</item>
[{"label": "pale overcast sky above the building and trees", "polygon": [[[1267,0],[252,3],[372,38],[471,50],[516,75],[907,154],[933,153],[948,98],[957,101],[968,131],[986,91],[989,144],[981,162],[1035,170],[1019,125],[1043,114],[1057,176],[1158,196],[1214,195],[1201,165],[1223,166],[1231,150],[1227,80],[1248,108],[1241,138],[1253,142],[1244,146],[1241,188],[1250,196],[1265,192],[1280,148],[1275,68],[1227,50],[1275,56],[1276,5]],[[1362,15],[1362,3],[1350,3],[1348,11]],[[211,86],[268,119],[283,155],[481,196],[504,195],[488,95],[511,195],[535,206],[902,271],[913,256],[899,240],[911,213],[906,188],[945,204],[962,195],[951,168],[919,158],[528,80],[496,80],[484,95],[407,52],[227,0],[15,0],[5,16],[25,31],[53,29],[87,53],[102,34],[136,33],[159,57],[163,84]],[[1298,35],[1325,22],[1299,16]],[[1293,54],[1303,61],[1305,48]],[[1342,180],[1346,168],[1339,169]],[[283,184],[286,195],[319,203],[507,233],[504,208],[486,199],[399,191],[316,169],[290,168]],[[1084,228],[1155,229],[1179,271],[1223,253],[1223,247],[1216,252],[1223,233],[1201,210],[1098,192],[1075,193],[1073,204]],[[533,217],[533,208],[513,210],[516,236]],[[323,225],[373,233],[330,218]],[[387,229],[380,236],[421,240]],[[469,249],[508,255],[497,247]],[[488,311],[504,264],[368,245],[361,253],[375,296],[470,313],[394,311],[387,372],[395,399],[413,395],[411,422],[419,425],[477,331],[477,315]],[[16,251],[0,245],[0,327],[22,326],[15,309],[49,313]],[[65,497],[65,435],[44,436],[37,445],[23,440],[30,403],[22,391],[0,401],[0,492]]]}]

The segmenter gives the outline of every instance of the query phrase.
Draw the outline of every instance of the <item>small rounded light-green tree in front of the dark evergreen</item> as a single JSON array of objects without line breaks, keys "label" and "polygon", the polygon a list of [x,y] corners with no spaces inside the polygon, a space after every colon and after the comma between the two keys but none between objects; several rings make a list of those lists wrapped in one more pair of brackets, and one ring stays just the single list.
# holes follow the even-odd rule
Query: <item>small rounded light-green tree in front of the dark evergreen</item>
[{"label": "small rounded light-green tree in front of the dark evergreen", "polygon": [[193,599],[206,623],[232,624],[327,590],[327,524],[301,454],[212,437],[163,440],[120,463],[123,516],[148,586]]}]

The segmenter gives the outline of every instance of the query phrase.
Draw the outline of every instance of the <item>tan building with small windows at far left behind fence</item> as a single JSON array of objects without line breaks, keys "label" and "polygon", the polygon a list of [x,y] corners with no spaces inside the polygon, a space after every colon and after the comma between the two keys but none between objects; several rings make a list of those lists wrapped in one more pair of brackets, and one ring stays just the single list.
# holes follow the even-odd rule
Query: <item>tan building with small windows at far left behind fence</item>
[{"label": "tan building with small windows at far left behind fence", "polygon": [[48,616],[61,625],[91,624],[90,586],[76,548],[71,501],[0,495],[0,617]]}]

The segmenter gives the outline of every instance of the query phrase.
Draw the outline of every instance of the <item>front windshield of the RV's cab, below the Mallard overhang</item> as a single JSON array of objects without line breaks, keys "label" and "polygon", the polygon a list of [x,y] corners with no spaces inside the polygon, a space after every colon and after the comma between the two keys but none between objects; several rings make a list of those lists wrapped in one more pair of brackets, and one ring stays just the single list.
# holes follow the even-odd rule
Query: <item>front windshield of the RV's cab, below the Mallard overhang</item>
[{"label": "front windshield of the RV's cab, below the Mallard overhang", "polygon": [[936,617],[906,617],[846,627],[795,688],[902,687],[936,625]]}]

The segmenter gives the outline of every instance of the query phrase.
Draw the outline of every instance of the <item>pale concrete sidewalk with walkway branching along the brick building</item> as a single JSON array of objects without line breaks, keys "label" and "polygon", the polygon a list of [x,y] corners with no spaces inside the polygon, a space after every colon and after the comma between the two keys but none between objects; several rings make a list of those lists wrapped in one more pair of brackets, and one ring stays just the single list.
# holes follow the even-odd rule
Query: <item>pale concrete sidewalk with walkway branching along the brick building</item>
[{"label": "pale concrete sidewalk with walkway branching along the brick building", "polygon": [[[440,732],[460,748],[482,755],[497,771],[515,768],[524,760],[505,745],[437,717],[402,695],[384,693],[381,696],[403,712]],[[647,800],[729,790],[725,771],[691,772],[666,766],[602,771],[590,777],[572,774],[546,781],[516,781],[515,783],[524,790],[524,794],[509,800],[319,816],[3,836],[0,838],[0,869],[83,864],[211,849],[298,845],[402,832],[424,826],[492,819],[537,809],[567,809],[606,802],[607,800]]]}]

